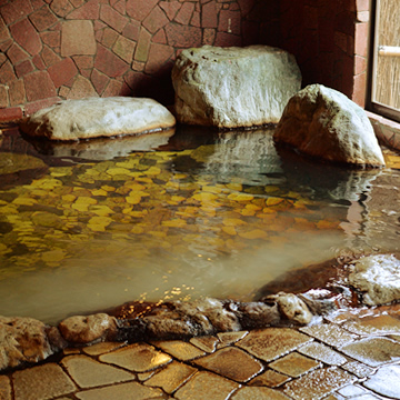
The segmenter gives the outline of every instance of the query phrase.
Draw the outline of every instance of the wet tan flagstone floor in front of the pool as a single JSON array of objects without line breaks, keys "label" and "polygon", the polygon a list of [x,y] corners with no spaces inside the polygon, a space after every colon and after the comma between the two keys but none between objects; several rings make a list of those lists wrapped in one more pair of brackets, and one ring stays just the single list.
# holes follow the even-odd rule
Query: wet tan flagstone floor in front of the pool
[{"label": "wet tan flagstone floor in front of the pool", "polygon": [[1,400],[400,399],[400,304],[302,328],[97,343],[0,376]]}]

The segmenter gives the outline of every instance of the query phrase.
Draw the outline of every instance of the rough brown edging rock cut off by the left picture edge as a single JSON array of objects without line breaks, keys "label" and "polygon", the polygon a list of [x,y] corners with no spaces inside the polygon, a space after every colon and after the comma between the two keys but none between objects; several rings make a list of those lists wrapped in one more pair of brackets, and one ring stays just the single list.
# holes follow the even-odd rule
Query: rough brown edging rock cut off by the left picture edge
[{"label": "rough brown edging rock cut off by the left picture edge", "polygon": [[42,361],[63,347],[57,330],[41,321],[0,317],[0,370]]}]

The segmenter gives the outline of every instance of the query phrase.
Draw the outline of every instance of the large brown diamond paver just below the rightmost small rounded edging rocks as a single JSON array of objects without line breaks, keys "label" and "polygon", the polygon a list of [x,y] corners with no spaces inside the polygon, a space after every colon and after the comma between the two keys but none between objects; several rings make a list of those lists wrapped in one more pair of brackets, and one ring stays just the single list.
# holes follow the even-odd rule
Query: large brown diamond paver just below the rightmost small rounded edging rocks
[{"label": "large brown diamond paver just below the rightmost small rounded edging rocks", "polygon": [[313,339],[289,328],[253,330],[236,346],[267,362],[272,361]]}]

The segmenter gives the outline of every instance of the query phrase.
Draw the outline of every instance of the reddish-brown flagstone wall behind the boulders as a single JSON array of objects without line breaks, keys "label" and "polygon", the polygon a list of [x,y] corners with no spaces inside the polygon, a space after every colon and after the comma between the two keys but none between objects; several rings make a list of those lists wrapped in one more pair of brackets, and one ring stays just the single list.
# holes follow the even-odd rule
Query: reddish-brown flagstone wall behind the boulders
[{"label": "reddish-brown flagstone wall behind the boulders", "polygon": [[361,101],[367,38],[359,47],[354,38],[368,23],[356,7],[366,2],[0,0],[0,121],[87,96],[171,104],[174,59],[202,44],[281,47],[297,57],[306,84],[324,83]]}]

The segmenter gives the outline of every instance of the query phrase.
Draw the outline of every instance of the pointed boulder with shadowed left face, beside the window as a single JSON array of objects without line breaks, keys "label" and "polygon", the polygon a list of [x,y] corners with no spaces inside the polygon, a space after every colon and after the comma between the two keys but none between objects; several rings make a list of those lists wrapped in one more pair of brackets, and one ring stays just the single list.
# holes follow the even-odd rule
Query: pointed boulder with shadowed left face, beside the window
[{"label": "pointed boulder with shadowed left face, beside the window", "polygon": [[310,84],[290,99],[273,139],[331,162],[384,166],[364,110],[344,94],[321,84]]}]

